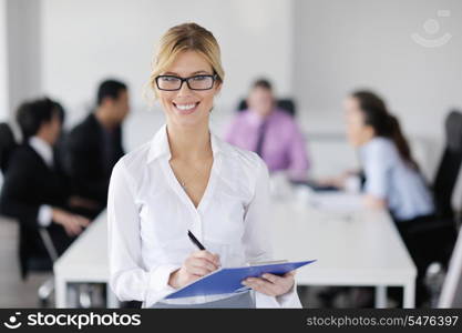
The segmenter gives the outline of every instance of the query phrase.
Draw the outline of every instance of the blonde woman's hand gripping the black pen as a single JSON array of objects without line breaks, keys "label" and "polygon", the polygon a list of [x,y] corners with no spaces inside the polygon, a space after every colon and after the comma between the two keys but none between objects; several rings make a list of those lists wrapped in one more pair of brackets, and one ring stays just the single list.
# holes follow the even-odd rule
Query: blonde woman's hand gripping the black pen
[{"label": "blonde woman's hand gripping the black pen", "polygon": [[175,289],[182,287],[197,279],[216,271],[219,268],[219,258],[206,250],[189,254],[182,268],[170,275],[168,284]]}]

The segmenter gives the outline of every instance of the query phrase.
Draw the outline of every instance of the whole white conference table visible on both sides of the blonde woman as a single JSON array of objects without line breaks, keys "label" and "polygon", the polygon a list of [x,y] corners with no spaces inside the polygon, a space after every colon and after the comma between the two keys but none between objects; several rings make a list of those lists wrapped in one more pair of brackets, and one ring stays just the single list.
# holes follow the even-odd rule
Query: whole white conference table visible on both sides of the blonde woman
[{"label": "whole white conference table visible on both sides of the blonde woman", "polygon": [[[386,211],[330,211],[296,201],[278,201],[271,211],[275,259],[317,259],[298,271],[299,285],[376,286],[377,307],[387,305],[387,286],[403,286],[403,306],[414,306],[417,270]],[[69,306],[69,283],[107,283],[106,228],[102,213],[54,263],[57,307]],[[107,295],[107,307],[116,307],[109,286]]]}]

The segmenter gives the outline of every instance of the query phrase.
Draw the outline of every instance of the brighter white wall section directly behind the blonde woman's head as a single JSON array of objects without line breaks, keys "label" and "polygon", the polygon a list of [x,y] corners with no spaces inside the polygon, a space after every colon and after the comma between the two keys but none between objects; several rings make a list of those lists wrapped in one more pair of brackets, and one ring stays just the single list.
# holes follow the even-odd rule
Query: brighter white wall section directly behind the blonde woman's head
[{"label": "brighter white wall section directly behind the blonde woman's head", "polygon": [[72,123],[92,105],[101,79],[125,80],[132,91],[132,118],[137,118],[131,119],[137,128],[131,133],[137,138],[130,135],[130,145],[138,144],[153,132],[150,121],[158,118],[145,114],[142,99],[154,46],[170,27],[195,21],[222,47],[226,79],[215,113],[228,113],[257,75],[274,79],[287,94],[291,6],[286,0],[42,0],[42,90],[62,100]]}]

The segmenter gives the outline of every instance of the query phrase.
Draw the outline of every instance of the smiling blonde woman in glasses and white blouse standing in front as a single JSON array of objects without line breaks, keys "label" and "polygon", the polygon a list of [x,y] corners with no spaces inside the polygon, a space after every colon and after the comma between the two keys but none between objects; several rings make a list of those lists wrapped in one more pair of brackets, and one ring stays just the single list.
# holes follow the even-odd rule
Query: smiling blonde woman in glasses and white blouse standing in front
[{"label": "smiling blonde woman in glasses and white blouse standing in front", "polygon": [[[270,260],[268,171],[208,128],[225,78],[206,29],[185,23],[161,39],[151,88],[166,125],[123,157],[111,178],[111,286],[144,307],[299,307],[294,273],[243,284],[253,292],[163,300],[219,266]],[[207,250],[197,251],[187,231]]]}]

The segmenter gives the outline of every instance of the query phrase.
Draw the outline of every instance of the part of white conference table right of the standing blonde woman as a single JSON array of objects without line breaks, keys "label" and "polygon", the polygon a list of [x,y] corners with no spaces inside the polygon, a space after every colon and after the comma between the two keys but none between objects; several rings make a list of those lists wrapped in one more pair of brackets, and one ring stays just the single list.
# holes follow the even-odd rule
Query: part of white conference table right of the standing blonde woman
[{"label": "part of white conference table right of the standing blonde woman", "polygon": [[387,211],[286,201],[273,214],[275,258],[317,260],[297,271],[299,285],[374,286],[376,307],[387,306],[387,286],[402,286],[403,306],[414,307],[417,269]]}]

